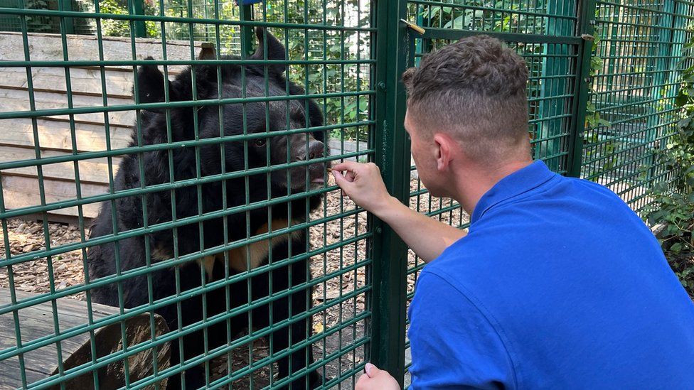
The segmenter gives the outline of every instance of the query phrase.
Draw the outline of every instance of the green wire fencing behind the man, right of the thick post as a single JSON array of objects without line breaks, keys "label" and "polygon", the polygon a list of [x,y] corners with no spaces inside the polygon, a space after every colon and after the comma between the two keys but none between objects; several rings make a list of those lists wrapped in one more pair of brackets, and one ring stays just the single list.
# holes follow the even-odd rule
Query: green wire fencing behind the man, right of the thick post
[{"label": "green wire fencing behind the man, right of the thick post", "polygon": [[[678,121],[673,99],[678,70],[684,67],[682,45],[691,31],[691,5],[688,1],[410,0],[400,6],[400,15],[425,28],[425,33],[403,27],[403,39],[410,47],[395,73],[457,38],[487,33],[505,40],[530,70],[528,131],[534,158],[557,173],[607,185],[638,211],[649,202],[648,188],[669,180],[653,152],[666,146]],[[410,207],[442,222],[468,227],[469,216],[460,205],[431,197],[415,166],[407,163],[412,178],[404,183],[410,191],[402,200],[409,198]],[[409,304],[425,263],[408,251],[407,264],[402,277]],[[404,359],[405,369],[410,366],[408,350],[399,359]],[[395,372],[398,377],[404,374],[404,383],[409,383],[405,372]]]}]

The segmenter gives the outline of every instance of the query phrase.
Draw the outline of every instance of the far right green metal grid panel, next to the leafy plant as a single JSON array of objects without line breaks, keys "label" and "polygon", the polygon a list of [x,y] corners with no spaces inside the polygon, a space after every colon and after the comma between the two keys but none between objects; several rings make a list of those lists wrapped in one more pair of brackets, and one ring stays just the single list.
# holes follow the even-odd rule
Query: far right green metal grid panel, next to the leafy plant
[{"label": "far right green metal grid panel, next to the leafy plant", "polygon": [[606,185],[634,210],[648,189],[669,181],[653,156],[675,131],[683,43],[691,34],[693,3],[676,0],[598,1],[596,56],[602,69],[590,101],[602,119],[583,136],[581,176]]}]

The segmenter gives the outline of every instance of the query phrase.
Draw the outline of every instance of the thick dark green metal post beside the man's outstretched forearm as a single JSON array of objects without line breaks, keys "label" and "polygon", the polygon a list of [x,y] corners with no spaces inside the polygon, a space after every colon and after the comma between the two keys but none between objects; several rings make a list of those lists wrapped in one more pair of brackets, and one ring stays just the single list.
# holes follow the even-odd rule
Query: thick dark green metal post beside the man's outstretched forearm
[{"label": "thick dark green metal post beside the man's outstretched forearm", "polygon": [[[410,36],[405,24],[407,3],[374,2],[376,33],[375,163],[390,194],[407,204],[410,194],[410,146],[405,136],[405,87],[400,75],[407,68]],[[402,386],[405,370],[405,304],[407,246],[388,224],[370,218],[373,228],[373,281],[370,361],[386,369]]]}]

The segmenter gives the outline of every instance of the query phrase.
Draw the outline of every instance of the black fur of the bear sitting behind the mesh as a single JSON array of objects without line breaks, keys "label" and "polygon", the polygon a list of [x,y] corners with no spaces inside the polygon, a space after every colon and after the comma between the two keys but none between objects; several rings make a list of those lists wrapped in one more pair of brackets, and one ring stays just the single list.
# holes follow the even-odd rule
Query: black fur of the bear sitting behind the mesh
[{"label": "black fur of the bear sitting behind the mesh", "polygon": [[[259,49],[251,57],[252,59],[267,58],[270,60],[283,60],[284,47],[272,35],[258,28],[256,31]],[[265,42],[264,42],[265,40]],[[265,55],[267,48],[267,55]],[[245,96],[262,97],[265,96],[265,77],[269,79],[269,89],[267,95],[284,96],[288,88],[290,94],[304,94],[301,87],[287,82],[284,78],[285,66],[272,65],[243,65],[245,67]],[[241,85],[241,66],[223,65],[221,70],[221,90],[224,98],[235,98],[242,96]],[[165,92],[168,89],[169,100],[189,101],[193,99],[192,73],[195,72],[196,93],[198,100],[218,98],[218,68],[213,65],[196,66],[194,70],[182,72],[175,80],[165,80],[164,75],[152,65],[143,65],[137,72],[137,85],[139,92],[139,102],[152,103],[164,102]],[[164,83],[169,83],[165,88]],[[218,106],[199,106],[199,107],[178,107],[169,109],[171,115],[171,141],[188,141],[195,137],[194,115],[197,110],[198,115],[198,135],[201,139],[208,139],[220,136],[220,116]],[[242,104],[225,104],[223,110],[223,132],[226,136],[242,133],[244,108]],[[307,112],[308,111],[308,112]],[[166,131],[166,109],[150,109],[139,113],[142,144],[153,145],[167,143],[168,136]],[[287,117],[290,119],[290,128],[302,128],[307,124],[310,126],[321,126],[323,116],[318,105],[311,100],[297,99],[292,100],[289,105],[287,102],[272,102],[269,104],[269,115],[266,117],[266,103],[256,102],[245,104],[245,117],[247,131],[257,133],[266,131],[269,127],[271,131],[287,129]],[[269,119],[269,123],[267,120]],[[308,123],[307,123],[308,122]],[[267,126],[266,126],[267,125]],[[289,142],[288,142],[289,137]],[[301,159],[301,156],[314,156],[314,151],[319,153],[319,149],[324,148],[324,134],[316,132],[312,134],[311,151],[306,151],[306,134],[297,136],[274,136],[268,137],[267,143],[270,144],[270,160],[272,164],[287,163],[287,148],[292,158]],[[314,140],[315,138],[315,140]],[[134,131],[131,146],[137,146],[137,131]],[[223,148],[223,153],[222,153]],[[314,150],[315,149],[315,150]],[[267,166],[266,148],[258,146],[254,141],[247,143],[249,168]],[[303,153],[303,154],[302,154]],[[171,151],[173,163],[174,180],[186,180],[196,178],[197,167],[203,177],[218,175],[221,172],[222,155],[225,160],[226,172],[242,171],[245,169],[244,145],[241,141],[225,142],[222,146],[215,143],[210,146],[200,146],[200,160],[196,158],[196,148],[183,147]],[[308,157],[306,157],[308,158]],[[144,177],[141,175],[142,172]],[[319,180],[325,172],[322,163],[311,164],[310,166],[293,168],[292,170],[278,170],[270,175],[265,173],[248,177],[248,192],[250,202],[267,200],[271,197],[286,196],[288,193],[301,193],[306,190],[306,172],[310,178]],[[292,178],[292,185],[287,185],[287,178]],[[267,180],[271,181],[268,193]],[[146,195],[119,197],[114,201],[115,212],[112,212],[111,202],[102,205],[98,217],[92,224],[90,237],[107,236],[113,233],[113,227],[117,232],[126,232],[130,229],[144,227],[143,212],[146,206],[148,226],[170,222],[173,220],[172,208],[176,211],[176,220],[186,217],[194,217],[198,213],[208,213],[223,210],[223,185],[226,189],[225,206],[236,207],[245,205],[246,182],[245,178],[234,178],[226,180],[224,183],[215,181],[203,185],[188,185],[175,190],[175,207],[172,207],[171,190],[162,190]],[[151,186],[162,183],[170,183],[169,177],[169,151],[149,151],[139,155],[129,155],[123,158],[120,163],[118,173],[114,181],[116,191],[137,189],[142,186]],[[289,190],[287,188],[289,187]],[[199,191],[199,193],[198,193]],[[304,220],[310,210],[320,205],[320,197],[313,196],[306,199],[299,199],[292,202],[291,216],[297,223]],[[201,210],[198,209],[201,205]],[[307,210],[307,207],[309,210]],[[228,242],[244,239],[247,236],[247,227],[250,227],[251,235],[259,229],[262,224],[268,222],[268,207],[257,207],[248,214],[240,212],[226,218],[228,224]],[[287,203],[272,206],[272,217],[274,219],[287,219],[289,205]],[[112,220],[112,214],[116,217],[116,222]],[[219,247],[225,241],[223,234],[223,218],[217,217],[203,222],[204,242],[201,243],[200,226],[197,222],[183,224],[176,229],[164,229],[158,232],[151,232],[144,236],[130,237],[121,239],[117,244],[103,244],[92,247],[88,251],[88,264],[90,278],[101,278],[103,276],[114,275],[117,272],[124,272],[131,269],[141,268],[147,265],[145,256],[146,245],[149,243],[152,264],[158,261],[168,261],[173,258],[174,251],[178,256],[195,254],[201,247],[205,249]],[[289,244],[277,244],[272,249],[272,261],[277,262],[287,259],[290,256],[304,254],[308,248],[308,232],[304,231],[301,237],[294,237],[289,253]],[[157,256],[154,256],[154,254]],[[164,254],[162,256],[162,254]],[[119,257],[120,269],[117,270],[116,257]],[[267,259],[266,259],[267,261]],[[102,288],[92,291],[92,300],[97,303],[118,306],[118,290],[122,290],[123,305],[125,308],[134,308],[146,305],[151,300],[160,300],[176,293],[195,290],[210,281],[219,281],[225,276],[233,276],[243,271],[225,269],[223,261],[215,261],[212,271],[212,278],[205,275],[205,270],[195,260],[186,261],[176,267],[168,267],[146,275],[127,278],[120,283],[112,283]],[[289,276],[291,275],[291,280]],[[219,313],[226,313],[228,310],[226,301],[226,291],[229,292],[230,310],[246,305],[250,300],[259,300],[269,296],[271,293],[286,291],[292,286],[299,286],[309,280],[309,266],[307,260],[296,261],[273,271],[262,273],[250,278],[250,280],[237,281],[235,283],[225,283],[226,286],[216,288],[205,293],[204,303],[207,316],[212,317]],[[148,280],[149,279],[149,280]],[[176,279],[180,281],[180,291],[176,291]],[[272,281],[272,283],[270,283]],[[152,296],[149,297],[148,283],[152,284]],[[251,297],[248,297],[250,284]],[[228,288],[228,290],[226,289]],[[290,303],[291,300],[291,303]],[[306,288],[297,293],[293,293],[288,298],[274,300],[271,305],[263,305],[252,310],[252,327],[267,327],[270,325],[270,312],[272,311],[273,323],[282,322],[289,316],[305,313],[310,308],[311,294],[310,288]],[[182,323],[178,323],[177,307],[175,304],[167,305],[156,310],[168,323],[171,330],[179,327],[196,323],[203,319],[203,296],[193,296],[181,300]],[[291,311],[290,311],[291,308]],[[243,312],[229,321],[231,332],[227,331],[227,322],[221,321],[215,325],[207,327],[208,350],[212,350],[220,345],[227,345],[238,337],[249,324],[249,315]],[[286,350],[289,344],[289,333],[293,344],[306,340],[310,335],[311,327],[309,320],[295,322],[293,325],[284,326],[274,330],[269,337],[272,337],[273,353]],[[197,331],[182,337],[183,356],[186,359],[193,359],[204,352],[203,332]],[[171,343],[171,364],[179,364],[179,343],[174,340]],[[243,346],[247,351],[247,346]],[[284,357],[278,362],[279,379],[287,375],[304,369],[307,364],[313,362],[311,348],[299,349],[292,355],[292,367],[289,367],[289,357]],[[175,375],[169,378],[169,389],[181,388],[181,376]],[[291,387],[294,389],[305,389],[306,387],[318,386],[321,382],[316,372],[310,372],[305,377],[293,381]],[[185,373],[185,384],[187,389],[197,389],[205,385],[205,372],[203,366],[193,367]]]}]

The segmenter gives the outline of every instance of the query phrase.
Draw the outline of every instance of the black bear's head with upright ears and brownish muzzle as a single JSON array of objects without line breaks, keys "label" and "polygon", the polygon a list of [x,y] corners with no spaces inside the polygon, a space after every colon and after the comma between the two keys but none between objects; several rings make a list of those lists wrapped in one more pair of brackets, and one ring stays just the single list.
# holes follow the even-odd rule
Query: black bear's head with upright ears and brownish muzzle
[{"label": "black bear's head with upright ears and brownish muzzle", "polygon": [[[164,80],[156,66],[139,67],[139,103],[166,102],[167,93],[169,102],[203,102],[169,108],[173,141],[195,139],[196,133],[198,139],[224,137],[218,143],[200,147],[203,175],[221,173],[223,156],[225,172],[258,172],[250,175],[250,180],[259,182],[256,185],[269,177],[274,188],[292,192],[321,186],[327,164],[321,160],[309,162],[327,153],[324,131],[311,130],[324,124],[321,109],[305,97],[303,88],[285,77],[284,45],[263,28],[255,33],[257,50],[245,61],[223,57],[234,63],[196,65],[174,80]],[[220,98],[228,102],[204,102]],[[166,108],[146,111],[143,126],[166,134]]]}]

